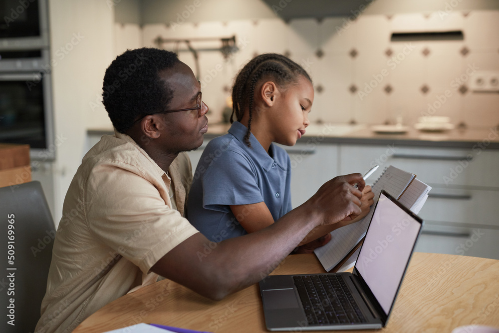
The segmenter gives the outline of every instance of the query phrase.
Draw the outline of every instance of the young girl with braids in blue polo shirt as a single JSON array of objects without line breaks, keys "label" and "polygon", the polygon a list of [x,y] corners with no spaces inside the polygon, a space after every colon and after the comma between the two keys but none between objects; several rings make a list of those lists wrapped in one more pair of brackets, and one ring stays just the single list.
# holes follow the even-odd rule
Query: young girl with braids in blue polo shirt
[{"label": "young girl with braids in blue polo shirt", "polygon": [[[233,124],[206,146],[188,200],[189,221],[214,242],[258,231],[292,209],[290,159],[273,142],[293,146],[305,134],[314,91],[300,65],[269,53],[239,72],[232,98]],[[372,194],[369,186],[363,192]],[[362,216],[372,197],[363,194]],[[306,241],[326,236],[301,252],[327,243],[328,232],[340,224],[312,231]]]}]

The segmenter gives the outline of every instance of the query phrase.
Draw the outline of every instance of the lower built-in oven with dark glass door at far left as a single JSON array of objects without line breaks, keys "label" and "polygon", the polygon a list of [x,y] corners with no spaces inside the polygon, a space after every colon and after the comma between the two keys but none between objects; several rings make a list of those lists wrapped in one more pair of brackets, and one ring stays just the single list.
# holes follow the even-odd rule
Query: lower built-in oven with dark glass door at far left
[{"label": "lower built-in oven with dark glass door at far left", "polygon": [[0,50],[0,142],[29,144],[32,159],[55,158],[48,50]]}]

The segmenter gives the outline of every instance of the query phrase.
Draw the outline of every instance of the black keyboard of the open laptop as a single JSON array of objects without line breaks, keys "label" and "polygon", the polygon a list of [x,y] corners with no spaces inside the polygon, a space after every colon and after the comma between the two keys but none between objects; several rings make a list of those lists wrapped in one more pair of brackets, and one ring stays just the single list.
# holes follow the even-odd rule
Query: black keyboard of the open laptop
[{"label": "black keyboard of the open laptop", "polygon": [[336,275],[294,276],[308,325],[365,323],[343,279]]}]

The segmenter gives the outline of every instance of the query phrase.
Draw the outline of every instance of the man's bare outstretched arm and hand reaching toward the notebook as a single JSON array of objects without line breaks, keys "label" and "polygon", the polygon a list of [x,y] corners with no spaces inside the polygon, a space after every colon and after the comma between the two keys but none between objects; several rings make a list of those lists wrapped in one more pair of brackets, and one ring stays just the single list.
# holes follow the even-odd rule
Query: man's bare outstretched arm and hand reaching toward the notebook
[{"label": "man's bare outstretched arm and hand reaching toward the notebook", "polygon": [[[355,183],[359,189],[352,186]],[[163,256],[151,271],[203,296],[223,299],[267,276],[313,228],[361,214],[364,184],[361,174],[336,177],[275,223],[222,241],[210,253],[204,252],[205,245],[211,249],[210,241],[195,234]]]}]

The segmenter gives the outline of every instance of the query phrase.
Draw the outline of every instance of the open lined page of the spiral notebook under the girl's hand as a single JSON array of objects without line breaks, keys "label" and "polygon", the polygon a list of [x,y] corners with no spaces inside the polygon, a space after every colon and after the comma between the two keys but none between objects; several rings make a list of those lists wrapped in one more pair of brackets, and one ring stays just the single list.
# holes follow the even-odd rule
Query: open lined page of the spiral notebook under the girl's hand
[{"label": "open lined page of the spiral notebook under the girl's hand", "polygon": [[[382,189],[395,198],[398,198],[415,177],[412,173],[390,165],[372,186],[374,198],[377,199],[379,197]],[[373,207],[371,207],[369,213],[362,220],[331,231],[331,241],[314,250],[315,255],[326,271],[330,271],[336,266],[364,237],[371,221],[374,211]]]}]

